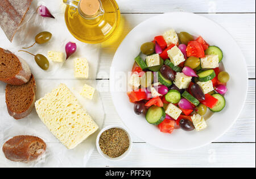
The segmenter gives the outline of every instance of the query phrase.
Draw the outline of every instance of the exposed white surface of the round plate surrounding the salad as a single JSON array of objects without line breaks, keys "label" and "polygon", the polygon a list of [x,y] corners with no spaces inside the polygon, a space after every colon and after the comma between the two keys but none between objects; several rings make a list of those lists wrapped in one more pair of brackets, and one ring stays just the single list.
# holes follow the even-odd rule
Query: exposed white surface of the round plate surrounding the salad
[{"label": "exposed white surface of the round plate surrounding the salad", "polygon": [[[164,134],[159,131],[158,127],[147,123],[144,116],[134,113],[134,105],[129,102],[125,91],[114,90],[114,87],[120,85],[121,82],[118,74],[123,72],[127,76],[127,72],[131,71],[134,58],[139,54],[141,45],[152,41],[155,36],[171,28],[174,28],[176,32],[186,31],[195,36],[201,35],[210,45],[220,47],[224,53],[225,70],[230,74],[228,92],[225,95],[225,109],[208,119],[208,127],[200,132],[185,132],[179,129],[172,134]],[[232,126],[245,102],[247,79],[247,69],[242,52],[224,28],[200,15],[167,13],[142,22],[123,40],[115,53],[110,69],[110,90],[115,109],[131,132],[156,147],[184,151],[211,143]]]}]

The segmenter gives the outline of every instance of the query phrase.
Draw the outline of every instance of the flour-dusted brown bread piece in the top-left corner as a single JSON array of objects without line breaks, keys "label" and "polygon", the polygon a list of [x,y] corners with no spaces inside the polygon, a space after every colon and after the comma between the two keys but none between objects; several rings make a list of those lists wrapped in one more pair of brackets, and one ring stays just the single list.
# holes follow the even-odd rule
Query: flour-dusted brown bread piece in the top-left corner
[{"label": "flour-dusted brown bread piece in the top-left corner", "polygon": [[10,41],[13,41],[24,16],[33,0],[1,0],[0,26]]}]

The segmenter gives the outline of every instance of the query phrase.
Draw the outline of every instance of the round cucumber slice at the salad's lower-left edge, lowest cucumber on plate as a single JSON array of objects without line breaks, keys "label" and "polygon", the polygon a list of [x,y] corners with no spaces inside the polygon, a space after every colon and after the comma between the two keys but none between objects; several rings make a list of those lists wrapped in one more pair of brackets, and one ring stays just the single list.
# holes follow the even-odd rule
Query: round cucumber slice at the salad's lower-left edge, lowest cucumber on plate
[{"label": "round cucumber slice at the salad's lower-left edge, lowest cucumber on plate", "polygon": [[148,123],[153,125],[158,125],[166,118],[166,113],[164,112],[163,107],[151,106],[147,110],[146,120]]}]

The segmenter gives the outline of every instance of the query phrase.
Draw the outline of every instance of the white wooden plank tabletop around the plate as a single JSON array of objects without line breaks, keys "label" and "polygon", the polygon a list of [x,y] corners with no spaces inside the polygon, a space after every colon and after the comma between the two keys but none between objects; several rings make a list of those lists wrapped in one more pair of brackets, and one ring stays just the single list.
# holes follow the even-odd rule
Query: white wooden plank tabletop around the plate
[{"label": "white wooden plank tabletop around the plate", "polygon": [[[121,9],[122,38],[137,24],[157,14],[188,11],[214,20],[240,45],[249,72],[249,91],[236,124],[213,143],[193,151],[171,152],[155,148],[137,136],[130,155],[122,161],[103,159],[94,150],[88,167],[255,167],[255,0],[117,0]],[[121,124],[109,93],[109,68],[118,44],[101,49],[98,85],[106,118],[104,126]]]}]

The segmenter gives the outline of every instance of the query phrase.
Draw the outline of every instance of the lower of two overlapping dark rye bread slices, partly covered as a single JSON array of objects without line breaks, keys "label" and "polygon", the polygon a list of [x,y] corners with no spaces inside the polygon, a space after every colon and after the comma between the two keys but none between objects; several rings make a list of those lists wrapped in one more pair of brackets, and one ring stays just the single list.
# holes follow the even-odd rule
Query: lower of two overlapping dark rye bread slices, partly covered
[{"label": "lower of two overlapping dark rye bread slices, partly covered", "polygon": [[14,119],[22,119],[30,114],[35,105],[35,93],[36,83],[33,75],[24,85],[7,85],[5,101],[10,116]]}]

